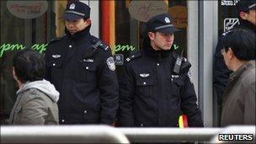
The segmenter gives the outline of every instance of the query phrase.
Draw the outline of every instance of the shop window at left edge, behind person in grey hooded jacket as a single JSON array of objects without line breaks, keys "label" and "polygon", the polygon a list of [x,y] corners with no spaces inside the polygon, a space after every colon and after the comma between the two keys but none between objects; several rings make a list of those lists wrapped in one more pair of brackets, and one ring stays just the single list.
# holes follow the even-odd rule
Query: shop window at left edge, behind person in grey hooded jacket
[{"label": "shop window at left edge, behind person in grey hooded jacket", "polygon": [[[1,123],[16,99],[12,76],[15,51],[30,47],[43,53],[47,43],[64,34],[61,17],[67,1],[1,1],[0,100]],[[58,29],[56,29],[58,28]]]}]

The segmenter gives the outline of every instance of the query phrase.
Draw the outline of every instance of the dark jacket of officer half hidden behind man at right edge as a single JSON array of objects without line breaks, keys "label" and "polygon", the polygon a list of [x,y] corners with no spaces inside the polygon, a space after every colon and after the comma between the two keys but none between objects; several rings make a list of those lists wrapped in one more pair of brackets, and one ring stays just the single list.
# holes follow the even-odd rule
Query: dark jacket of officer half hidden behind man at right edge
[{"label": "dark jacket of officer half hidden behind man at right edge", "polygon": [[[239,20],[240,20],[240,24],[233,29],[236,29],[236,28],[251,29],[256,35],[256,27],[253,24],[251,24],[247,20],[242,20],[242,19],[239,19]],[[215,51],[214,63],[213,63],[213,85],[216,91],[216,96],[217,96],[219,106],[221,106],[222,104],[223,93],[227,86],[228,78],[232,73],[232,71],[230,71],[227,68],[224,58],[221,55],[221,49],[224,47],[222,42],[224,35],[226,35],[226,33],[223,33],[219,37],[218,43],[216,45],[216,51]]]}]

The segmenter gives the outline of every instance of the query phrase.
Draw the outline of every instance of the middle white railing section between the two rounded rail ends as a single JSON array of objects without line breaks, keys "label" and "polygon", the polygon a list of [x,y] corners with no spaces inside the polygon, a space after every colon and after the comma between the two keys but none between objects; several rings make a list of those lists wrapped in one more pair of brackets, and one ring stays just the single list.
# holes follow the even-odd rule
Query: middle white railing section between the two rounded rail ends
[{"label": "middle white railing section between the two rounded rail ends", "polygon": [[210,141],[221,128],[119,128],[132,142]]}]

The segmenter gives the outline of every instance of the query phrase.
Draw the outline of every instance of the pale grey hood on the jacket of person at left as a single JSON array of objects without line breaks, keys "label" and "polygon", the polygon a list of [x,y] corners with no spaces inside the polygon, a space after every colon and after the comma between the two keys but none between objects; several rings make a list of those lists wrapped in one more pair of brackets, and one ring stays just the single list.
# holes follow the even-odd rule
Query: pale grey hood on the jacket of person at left
[{"label": "pale grey hood on the jacket of person at left", "polygon": [[24,91],[30,88],[36,88],[40,90],[42,93],[45,93],[54,102],[57,102],[59,100],[60,93],[56,91],[56,88],[54,87],[53,84],[46,81],[45,79],[41,81],[24,83],[16,93],[17,94],[23,93]]}]

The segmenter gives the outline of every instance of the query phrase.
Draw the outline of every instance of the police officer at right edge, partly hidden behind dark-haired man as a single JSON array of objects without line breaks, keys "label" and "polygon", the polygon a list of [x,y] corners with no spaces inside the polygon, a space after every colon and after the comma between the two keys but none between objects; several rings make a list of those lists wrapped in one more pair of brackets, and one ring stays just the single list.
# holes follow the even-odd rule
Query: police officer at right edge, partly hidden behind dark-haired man
[{"label": "police officer at right edge, partly hidden behind dark-haired man", "polygon": [[[240,0],[237,5],[237,18],[239,19],[239,25],[233,29],[249,29],[252,30],[256,35],[256,1],[255,0]],[[223,59],[221,54],[221,49],[224,47],[223,38],[229,31],[223,33],[216,45],[216,52],[214,55],[214,67],[213,67],[213,84],[216,91],[218,111],[221,114],[221,104],[223,99],[223,93],[227,85],[227,80],[232,71],[230,71]],[[220,115],[218,118],[218,123],[220,123]]]}]

